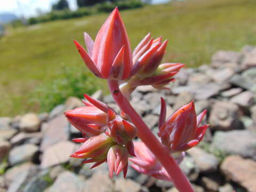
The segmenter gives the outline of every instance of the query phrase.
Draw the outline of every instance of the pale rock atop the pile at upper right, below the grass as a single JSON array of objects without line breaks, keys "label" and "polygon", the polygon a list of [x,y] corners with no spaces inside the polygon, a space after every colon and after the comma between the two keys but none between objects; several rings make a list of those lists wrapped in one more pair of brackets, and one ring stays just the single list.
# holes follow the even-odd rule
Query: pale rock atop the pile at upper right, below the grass
[{"label": "pale rock atop the pile at upper right, below the grass", "polygon": [[[217,51],[212,55],[212,63],[211,66],[214,68],[221,68],[219,65],[215,65],[215,63],[227,63],[227,62],[235,62],[238,63],[241,60],[241,53],[235,51]],[[225,67],[222,65],[222,68]]]}]

